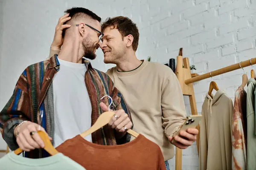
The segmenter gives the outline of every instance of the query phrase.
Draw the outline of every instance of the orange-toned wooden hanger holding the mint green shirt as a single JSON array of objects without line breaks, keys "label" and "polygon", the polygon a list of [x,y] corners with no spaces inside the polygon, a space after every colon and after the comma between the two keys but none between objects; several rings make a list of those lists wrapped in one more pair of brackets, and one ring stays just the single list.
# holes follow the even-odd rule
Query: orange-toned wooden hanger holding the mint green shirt
[{"label": "orange-toned wooden hanger holding the mint green shirt", "polygon": [[[47,134],[44,132],[44,131],[41,131],[41,130],[38,130],[37,131],[38,135],[40,136],[40,138],[43,140],[44,142],[44,150],[46,150],[50,155],[55,155],[58,152],[58,150],[56,150],[53,146],[52,146],[52,143],[49,139],[49,137],[47,136]],[[19,155],[20,153],[22,153],[23,150],[21,150],[20,148],[16,149],[14,151],[14,153],[16,155]]]}]

